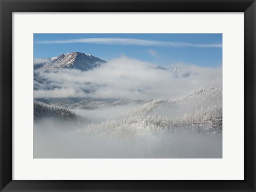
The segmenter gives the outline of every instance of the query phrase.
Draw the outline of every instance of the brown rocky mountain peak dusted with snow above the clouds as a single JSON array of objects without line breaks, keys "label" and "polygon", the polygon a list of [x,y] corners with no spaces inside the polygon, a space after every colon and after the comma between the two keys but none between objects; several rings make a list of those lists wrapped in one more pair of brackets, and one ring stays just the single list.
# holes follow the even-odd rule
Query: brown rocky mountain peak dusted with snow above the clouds
[{"label": "brown rocky mountain peak dusted with snow above the clouds", "polygon": [[88,53],[71,52],[51,58],[51,62],[45,63],[38,70],[45,72],[58,71],[59,69],[79,69],[87,71],[100,66],[107,61],[94,57]]}]

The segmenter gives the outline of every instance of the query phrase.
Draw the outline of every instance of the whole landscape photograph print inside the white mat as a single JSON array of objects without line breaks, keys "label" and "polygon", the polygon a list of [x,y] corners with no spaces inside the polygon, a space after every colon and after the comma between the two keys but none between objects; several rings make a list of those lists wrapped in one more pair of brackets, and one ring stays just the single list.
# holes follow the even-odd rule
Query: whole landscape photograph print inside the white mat
[{"label": "whole landscape photograph print inside the white mat", "polygon": [[34,34],[34,158],[222,158],[222,34]]}]

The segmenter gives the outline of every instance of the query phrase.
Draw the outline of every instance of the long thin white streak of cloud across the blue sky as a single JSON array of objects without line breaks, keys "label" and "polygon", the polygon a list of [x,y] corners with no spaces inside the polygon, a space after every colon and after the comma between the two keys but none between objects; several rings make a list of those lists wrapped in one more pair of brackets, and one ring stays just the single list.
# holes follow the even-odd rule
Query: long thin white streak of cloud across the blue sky
[{"label": "long thin white streak of cloud across the blue sky", "polygon": [[169,46],[169,47],[222,47],[221,43],[212,44],[194,44],[187,42],[165,42],[151,39],[137,38],[77,38],[77,39],[62,39],[53,41],[37,41],[39,44],[64,44],[64,43],[91,43],[105,45],[139,45],[139,46]]}]

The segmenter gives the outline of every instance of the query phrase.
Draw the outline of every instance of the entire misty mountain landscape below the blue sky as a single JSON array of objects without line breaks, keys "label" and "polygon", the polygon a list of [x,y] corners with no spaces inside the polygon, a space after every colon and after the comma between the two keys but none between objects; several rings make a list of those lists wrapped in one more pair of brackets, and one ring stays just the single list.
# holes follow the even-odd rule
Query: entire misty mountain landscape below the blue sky
[{"label": "entire misty mountain landscape below the blue sky", "polygon": [[34,158],[222,158],[222,68],[71,52],[34,65]]}]

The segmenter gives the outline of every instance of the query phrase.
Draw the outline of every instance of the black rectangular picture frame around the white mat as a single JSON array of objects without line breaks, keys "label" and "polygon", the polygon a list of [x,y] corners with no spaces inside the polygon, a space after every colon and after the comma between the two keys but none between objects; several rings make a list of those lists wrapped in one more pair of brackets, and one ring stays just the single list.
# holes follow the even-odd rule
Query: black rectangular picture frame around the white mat
[{"label": "black rectangular picture frame around the white mat", "polygon": [[[255,0],[0,0],[0,6],[1,191],[255,191]],[[244,180],[12,180],[13,12],[244,12]]]}]

